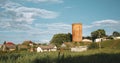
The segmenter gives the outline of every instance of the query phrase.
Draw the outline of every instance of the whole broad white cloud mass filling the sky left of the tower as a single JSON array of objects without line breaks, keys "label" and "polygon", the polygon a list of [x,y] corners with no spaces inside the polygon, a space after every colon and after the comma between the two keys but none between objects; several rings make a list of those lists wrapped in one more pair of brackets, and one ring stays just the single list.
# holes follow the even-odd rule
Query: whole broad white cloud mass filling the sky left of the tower
[{"label": "whole broad white cloud mass filling the sky left of the tower", "polygon": [[[57,3],[58,0],[52,1]],[[0,0],[0,40],[40,39],[48,42],[53,34],[67,32],[69,25],[64,23],[37,24],[35,21],[36,19],[54,19],[57,16],[59,14],[54,11],[25,7],[9,0]]]}]

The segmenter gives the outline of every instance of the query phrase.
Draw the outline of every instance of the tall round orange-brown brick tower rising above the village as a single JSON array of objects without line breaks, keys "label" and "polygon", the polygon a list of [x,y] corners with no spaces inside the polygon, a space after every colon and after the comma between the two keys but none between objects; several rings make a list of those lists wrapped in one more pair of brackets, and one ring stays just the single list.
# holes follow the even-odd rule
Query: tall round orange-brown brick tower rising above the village
[{"label": "tall round orange-brown brick tower rising above the village", "polygon": [[72,24],[72,41],[73,42],[82,41],[82,24],[81,23]]}]

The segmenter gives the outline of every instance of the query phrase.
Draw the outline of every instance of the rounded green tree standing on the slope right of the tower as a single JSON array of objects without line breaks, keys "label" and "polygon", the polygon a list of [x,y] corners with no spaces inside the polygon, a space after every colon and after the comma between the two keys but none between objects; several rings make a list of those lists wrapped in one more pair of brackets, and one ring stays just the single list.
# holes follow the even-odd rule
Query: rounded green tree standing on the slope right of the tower
[{"label": "rounded green tree standing on the slope right of the tower", "polygon": [[94,42],[96,38],[102,38],[106,36],[106,32],[104,29],[98,29],[96,31],[91,32],[91,37]]}]

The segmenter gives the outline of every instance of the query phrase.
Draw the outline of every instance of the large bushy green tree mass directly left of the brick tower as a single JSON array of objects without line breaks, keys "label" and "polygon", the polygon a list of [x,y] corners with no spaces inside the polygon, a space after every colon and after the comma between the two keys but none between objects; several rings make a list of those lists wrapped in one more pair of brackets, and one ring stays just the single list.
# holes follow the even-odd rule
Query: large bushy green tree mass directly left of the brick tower
[{"label": "large bushy green tree mass directly left of the brick tower", "polygon": [[72,34],[55,34],[51,39],[50,43],[55,44],[56,46],[60,46],[63,42],[71,42]]}]

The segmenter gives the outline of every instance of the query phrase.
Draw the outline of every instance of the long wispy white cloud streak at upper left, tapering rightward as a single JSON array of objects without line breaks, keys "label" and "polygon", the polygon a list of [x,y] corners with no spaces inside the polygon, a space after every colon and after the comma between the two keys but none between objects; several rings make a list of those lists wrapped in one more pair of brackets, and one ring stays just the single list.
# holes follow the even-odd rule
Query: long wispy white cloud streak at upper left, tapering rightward
[{"label": "long wispy white cloud streak at upper left, tapering rightward", "polygon": [[34,16],[39,16],[41,18],[56,18],[58,16],[58,14],[53,11],[38,8],[28,8],[14,2],[6,3],[2,6],[2,8],[4,8],[7,12],[14,12],[17,17],[23,17],[26,19],[26,21],[28,21],[28,18],[32,19]]}]

